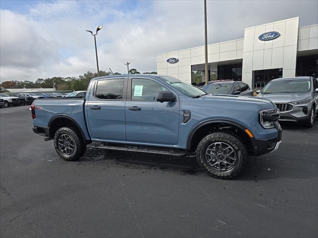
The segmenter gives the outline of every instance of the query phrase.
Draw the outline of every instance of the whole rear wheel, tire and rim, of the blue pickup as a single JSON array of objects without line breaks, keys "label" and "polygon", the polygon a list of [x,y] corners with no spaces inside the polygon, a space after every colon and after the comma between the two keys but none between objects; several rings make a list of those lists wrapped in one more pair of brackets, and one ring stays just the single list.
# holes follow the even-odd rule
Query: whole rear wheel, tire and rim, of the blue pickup
[{"label": "whole rear wheel, tire and rim, of the blue pickup", "polygon": [[75,126],[58,129],[54,135],[56,152],[66,161],[78,160],[85,153],[86,146]]}]

